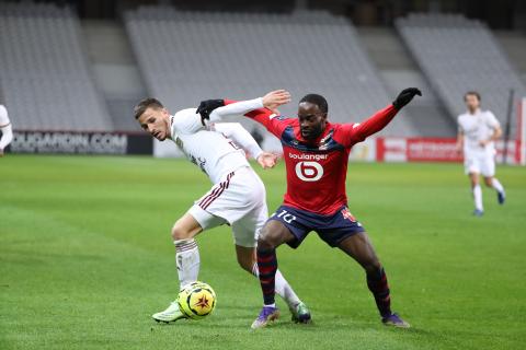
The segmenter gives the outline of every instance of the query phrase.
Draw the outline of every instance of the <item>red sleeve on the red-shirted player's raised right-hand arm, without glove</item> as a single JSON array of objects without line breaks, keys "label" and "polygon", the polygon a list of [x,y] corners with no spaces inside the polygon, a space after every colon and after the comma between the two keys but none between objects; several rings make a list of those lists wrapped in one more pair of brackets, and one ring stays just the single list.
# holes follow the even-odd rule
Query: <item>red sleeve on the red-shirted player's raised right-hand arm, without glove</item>
[{"label": "red sleeve on the red-shirted player's raised right-hand arm, without glove", "polygon": [[343,124],[338,129],[338,133],[334,135],[334,139],[344,147],[353,147],[353,144],[362,142],[384,129],[397,113],[398,109],[393,105],[389,105],[362,122]]}]

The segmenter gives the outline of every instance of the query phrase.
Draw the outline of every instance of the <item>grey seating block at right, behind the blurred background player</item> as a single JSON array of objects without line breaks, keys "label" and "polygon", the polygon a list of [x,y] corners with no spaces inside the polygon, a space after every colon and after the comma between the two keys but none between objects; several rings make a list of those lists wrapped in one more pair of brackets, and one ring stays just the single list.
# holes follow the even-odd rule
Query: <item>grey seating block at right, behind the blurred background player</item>
[{"label": "grey seating block at right, behind the blurred background player", "polygon": [[516,97],[526,95],[518,72],[484,24],[460,15],[411,14],[396,26],[451,117],[465,112],[462,96],[476,90],[483,108],[505,125],[510,90]]}]

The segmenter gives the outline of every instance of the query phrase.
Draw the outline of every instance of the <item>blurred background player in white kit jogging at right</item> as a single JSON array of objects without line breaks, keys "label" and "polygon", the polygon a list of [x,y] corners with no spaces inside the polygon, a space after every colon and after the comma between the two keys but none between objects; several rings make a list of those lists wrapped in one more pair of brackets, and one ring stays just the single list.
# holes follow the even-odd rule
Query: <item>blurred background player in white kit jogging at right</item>
[{"label": "blurred background player in white kit jogging at right", "polygon": [[464,151],[465,172],[471,182],[476,217],[484,213],[479,174],[488,187],[496,190],[498,201],[506,198],[504,187],[495,176],[495,144],[501,135],[501,125],[493,113],[480,108],[480,94],[470,91],[464,96],[468,110],[458,116],[457,150]]}]

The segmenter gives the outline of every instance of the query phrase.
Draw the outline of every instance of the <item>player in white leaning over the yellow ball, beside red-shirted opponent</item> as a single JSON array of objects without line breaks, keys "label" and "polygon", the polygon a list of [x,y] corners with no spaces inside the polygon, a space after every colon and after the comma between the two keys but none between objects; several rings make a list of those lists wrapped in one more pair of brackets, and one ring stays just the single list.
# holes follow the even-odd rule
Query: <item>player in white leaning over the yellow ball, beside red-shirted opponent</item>
[{"label": "player in white leaning over the yellow ball, beside red-shirted opponent", "polygon": [[[283,104],[279,94],[263,97],[267,107]],[[214,110],[220,117],[242,115],[251,110],[243,102]],[[277,156],[263,152],[252,136],[238,122],[206,124],[196,108],[182,109],[171,116],[155,98],[141,101],[135,117],[146,131],[159,141],[171,139],[211,180],[214,186],[179,219],[172,228],[180,288],[197,280],[199,253],[194,237],[222,224],[232,228],[238,262],[258,276],[255,246],[258,232],[267,219],[265,187],[250,167],[245,150],[263,168],[273,167]],[[278,272],[279,273],[279,272]],[[291,287],[279,273],[276,293],[288,304],[293,320],[310,315]],[[158,322],[184,318],[176,302],[152,315]]]}]

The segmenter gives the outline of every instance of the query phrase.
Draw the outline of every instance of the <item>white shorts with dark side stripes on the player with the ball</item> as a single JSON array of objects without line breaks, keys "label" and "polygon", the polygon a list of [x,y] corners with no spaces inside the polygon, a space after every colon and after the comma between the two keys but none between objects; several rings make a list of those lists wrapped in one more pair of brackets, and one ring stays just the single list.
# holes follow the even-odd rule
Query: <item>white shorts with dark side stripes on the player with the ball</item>
[{"label": "white shorts with dark side stripes on the player with the ball", "polygon": [[203,230],[231,225],[236,245],[255,247],[268,218],[265,186],[251,167],[243,166],[214,185],[188,213]]}]

